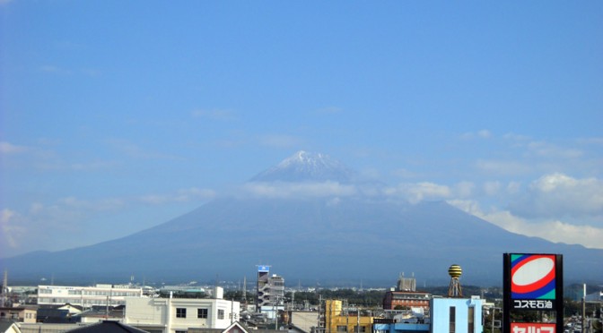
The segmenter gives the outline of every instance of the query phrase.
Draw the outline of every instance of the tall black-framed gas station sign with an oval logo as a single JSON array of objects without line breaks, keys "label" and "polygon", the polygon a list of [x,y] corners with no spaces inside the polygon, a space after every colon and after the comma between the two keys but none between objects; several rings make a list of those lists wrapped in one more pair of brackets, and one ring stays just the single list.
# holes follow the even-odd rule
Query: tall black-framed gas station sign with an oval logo
[{"label": "tall black-framed gas station sign with an oval logo", "polygon": [[[555,333],[564,330],[564,275],[561,254],[504,253],[503,332]],[[511,312],[555,312],[555,324],[511,322]]]}]

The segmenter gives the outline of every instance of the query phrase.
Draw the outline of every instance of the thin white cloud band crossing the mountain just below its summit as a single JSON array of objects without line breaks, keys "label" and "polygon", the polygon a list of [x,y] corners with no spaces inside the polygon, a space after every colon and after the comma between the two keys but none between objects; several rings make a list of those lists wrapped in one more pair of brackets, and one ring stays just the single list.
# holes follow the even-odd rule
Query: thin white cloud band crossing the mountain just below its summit
[{"label": "thin white cloud band crossing the mountain just below its summit", "polygon": [[324,183],[263,183],[254,182],[243,185],[243,191],[258,197],[267,198],[299,198],[299,197],[329,197],[350,196],[357,192],[353,185],[336,182]]}]

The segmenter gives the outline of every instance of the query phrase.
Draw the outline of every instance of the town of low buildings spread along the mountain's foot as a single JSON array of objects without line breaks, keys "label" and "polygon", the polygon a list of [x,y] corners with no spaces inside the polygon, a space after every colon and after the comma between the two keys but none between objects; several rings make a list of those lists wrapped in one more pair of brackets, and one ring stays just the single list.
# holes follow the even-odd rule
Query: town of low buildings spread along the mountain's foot
[{"label": "town of low buildings spread along the mountain's foot", "polygon": [[[0,332],[504,332],[502,288],[462,286],[458,265],[450,266],[449,286],[429,288],[403,273],[389,287],[295,286],[272,270],[258,265],[252,281],[174,286],[134,277],[125,284],[11,286],[4,272]],[[513,332],[554,332],[546,328],[557,320],[564,332],[601,332],[601,286],[588,293],[585,285],[568,286],[564,294],[563,316],[515,312],[516,321],[541,326]]]}]

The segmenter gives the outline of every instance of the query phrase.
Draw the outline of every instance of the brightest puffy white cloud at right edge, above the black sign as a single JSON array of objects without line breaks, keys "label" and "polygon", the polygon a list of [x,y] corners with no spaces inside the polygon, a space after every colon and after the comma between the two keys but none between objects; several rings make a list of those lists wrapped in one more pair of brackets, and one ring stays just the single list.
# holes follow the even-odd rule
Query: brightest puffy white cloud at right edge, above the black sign
[{"label": "brightest puffy white cloud at right edge, above the black sign", "polygon": [[603,217],[603,181],[560,173],[543,175],[510,208],[529,218]]}]

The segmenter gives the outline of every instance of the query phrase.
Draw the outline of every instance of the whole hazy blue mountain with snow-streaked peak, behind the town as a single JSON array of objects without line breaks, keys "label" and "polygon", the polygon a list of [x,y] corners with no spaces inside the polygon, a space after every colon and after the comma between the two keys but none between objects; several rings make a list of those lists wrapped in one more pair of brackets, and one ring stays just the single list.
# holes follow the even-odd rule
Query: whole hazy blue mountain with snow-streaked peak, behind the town
[{"label": "whole hazy blue mountain with snow-streaked peak, behind the town", "polygon": [[445,284],[450,264],[472,284],[502,283],[502,253],[564,254],[566,281],[603,278],[603,250],[516,235],[445,201],[410,204],[323,154],[299,151],[236,196],[125,237],[2,261],[12,278],[239,280],[269,264],[287,281]]}]

